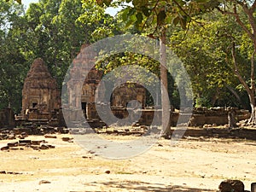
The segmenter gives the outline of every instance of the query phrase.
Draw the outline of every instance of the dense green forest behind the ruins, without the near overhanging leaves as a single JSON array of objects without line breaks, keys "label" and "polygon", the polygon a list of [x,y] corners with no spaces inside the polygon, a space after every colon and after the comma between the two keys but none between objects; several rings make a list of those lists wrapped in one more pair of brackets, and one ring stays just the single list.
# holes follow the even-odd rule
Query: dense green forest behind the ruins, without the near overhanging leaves
[{"label": "dense green forest behind the ruins, without the near overhanging leaves", "polygon": [[[15,113],[20,113],[23,82],[34,59],[44,59],[61,89],[67,68],[82,44],[124,33],[147,35],[134,26],[126,26],[122,15],[106,14],[94,1],[39,0],[24,9],[22,4],[1,0],[0,9],[0,108],[11,107]],[[175,25],[168,27],[166,44],[189,73],[195,107],[249,109],[247,93],[234,73],[230,51],[230,42],[236,42],[240,73],[245,79],[250,77],[253,47],[247,34],[232,16],[218,11],[200,15],[187,25],[186,30]],[[109,58],[110,67],[104,69],[105,73],[132,58],[160,74],[159,63],[141,55],[118,57]],[[178,107],[178,91],[170,74],[168,77],[171,103]]]}]

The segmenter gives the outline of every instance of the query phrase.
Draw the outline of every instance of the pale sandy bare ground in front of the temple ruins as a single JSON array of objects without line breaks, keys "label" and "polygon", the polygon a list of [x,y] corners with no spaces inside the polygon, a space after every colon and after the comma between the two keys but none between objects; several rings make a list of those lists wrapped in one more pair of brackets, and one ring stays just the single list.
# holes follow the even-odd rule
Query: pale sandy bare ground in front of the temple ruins
[{"label": "pale sandy bare ground in front of the temple ruins", "polygon": [[[252,141],[191,138],[173,146],[161,139],[134,158],[108,160],[61,140],[71,135],[56,136],[26,138],[44,139],[55,148],[0,151],[0,172],[8,173],[0,174],[0,191],[216,191],[228,178],[241,180],[249,190],[256,179]],[[9,142],[0,141],[0,147]]]}]

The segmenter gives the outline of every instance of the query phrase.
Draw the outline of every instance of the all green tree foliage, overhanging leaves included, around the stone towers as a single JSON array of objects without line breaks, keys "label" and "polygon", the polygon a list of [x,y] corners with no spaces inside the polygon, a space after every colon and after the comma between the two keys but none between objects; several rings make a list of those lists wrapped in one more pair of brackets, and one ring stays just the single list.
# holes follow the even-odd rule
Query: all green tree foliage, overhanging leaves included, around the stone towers
[{"label": "all green tree foliage, overhanging leaves included, around the stone towers", "polygon": [[[67,67],[82,44],[125,32],[144,32],[158,38],[163,28],[168,29],[166,43],[189,72],[197,106],[244,107],[244,103],[248,104],[244,86],[236,79],[230,50],[235,43],[238,70],[251,86],[253,40],[234,21],[233,15],[212,12],[219,3],[226,6],[218,9],[232,10],[232,6],[240,5],[241,1],[83,0],[81,3],[79,0],[39,0],[31,3],[26,13],[20,1],[16,2],[0,2],[0,108],[10,104],[15,112],[20,111],[23,81],[37,57],[44,59],[61,88]],[[123,9],[112,17],[105,13],[108,6],[122,6]],[[247,14],[241,7],[237,11],[241,21],[251,30]],[[159,63],[143,55],[111,55],[105,62],[108,62],[108,66],[102,68],[105,73],[128,63],[139,64],[160,76]],[[179,81],[182,82],[182,77]],[[171,102],[178,108],[177,84],[170,74],[168,82]]]}]

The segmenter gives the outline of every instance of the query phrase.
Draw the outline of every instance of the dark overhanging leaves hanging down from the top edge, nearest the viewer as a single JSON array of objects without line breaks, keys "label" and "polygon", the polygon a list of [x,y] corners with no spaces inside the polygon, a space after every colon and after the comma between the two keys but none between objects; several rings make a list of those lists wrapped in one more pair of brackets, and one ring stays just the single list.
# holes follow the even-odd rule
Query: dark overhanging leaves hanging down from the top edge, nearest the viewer
[{"label": "dark overhanging leaves hanging down from the top edge, nearest the viewer", "polygon": [[[219,1],[213,0],[101,0],[96,1],[100,6],[113,6],[119,3],[125,9],[121,11],[125,26],[135,25],[140,30],[144,28],[154,28],[154,32],[161,27],[180,24],[186,29],[187,23],[193,20],[195,15],[201,15],[208,10],[216,8]],[[129,3],[129,4],[127,4]]]}]

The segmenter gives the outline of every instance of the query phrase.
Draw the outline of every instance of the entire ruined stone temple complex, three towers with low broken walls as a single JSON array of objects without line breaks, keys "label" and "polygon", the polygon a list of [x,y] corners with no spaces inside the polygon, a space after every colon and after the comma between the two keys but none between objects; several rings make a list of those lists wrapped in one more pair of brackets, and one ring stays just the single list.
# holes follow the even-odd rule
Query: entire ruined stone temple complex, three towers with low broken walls
[{"label": "entire ruined stone temple complex, three towers with low broken walls", "polygon": [[[86,51],[84,51],[86,50]],[[48,68],[42,59],[36,59],[27,73],[22,90],[22,110],[16,117],[17,125],[24,122],[36,122],[38,125],[65,125],[61,113],[61,107],[68,108],[65,114],[66,123],[68,121],[82,122],[85,119],[91,127],[102,127],[105,122],[99,117],[96,110],[106,111],[106,106],[111,107],[115,117],[125,119],[132,108],[142,111],[142,116],[137,120],[140,125],[151,125],[152,119],[161,119],[161,110],[157,108],[146,108],[146,89],[140,84],[123,83],[114,84],[113,90],[108,90],[112,94],[109,100],[102,100],[107,88],[102,84],[102,71],[95,67],[96,52],[82,47],[80,54],[73,60],[73,67],[69,72],[67,80],[67,103],[61,104],[61,94],[57,89],[54,78],[51,77]],[[107,86],[107,85],[106,85]],[[107,97],[107,96],[106,96]],[[98,100],[96,100],[98,99]],[[65,100],[65,101],[66,101]],[[136,100],[137,102],[131,102]],[[98,101],[98,102],[96,102]],[[102,102],[103,101],[103,102]],[[66,106],[68,105],[68,106]],[[84,112],[84,114],[82,113]],[[1,114],[0,120],[6,121],[5,125],[11,125],[5,117],[8,113]],[[186,115],[185,112],[172,112],[170,114],[171,124],[177,124],[179,115]],[[237,119],[247,119],[247,113],[236,113]],[[81,119],[77,119],[79,117]],[[85,118],[85,119],[84,119]],[[75,120],[73,120],[75,119]],[[193,111],[189,125],[224,125],[227,124],[227,111],[220,108],[218,110],[197,110]],[[54,122],[54,123],[53,123]],[[19,124],[20,123],[20,124]],[[187,123],[187,122],[183,122]]]}]

